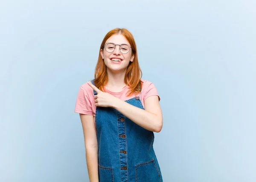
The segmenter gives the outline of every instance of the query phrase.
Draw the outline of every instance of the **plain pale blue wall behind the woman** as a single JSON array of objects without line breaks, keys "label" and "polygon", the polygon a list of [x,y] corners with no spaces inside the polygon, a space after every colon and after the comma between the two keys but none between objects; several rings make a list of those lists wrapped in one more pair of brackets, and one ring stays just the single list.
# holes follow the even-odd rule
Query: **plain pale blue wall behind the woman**
[{"label": "plain pale blue wall behind the woman", "polygon": [[165,182],[256,181],[253,0],[0,3],[0,181],[89,182],[74,113],[113,28],[160,94]]}]

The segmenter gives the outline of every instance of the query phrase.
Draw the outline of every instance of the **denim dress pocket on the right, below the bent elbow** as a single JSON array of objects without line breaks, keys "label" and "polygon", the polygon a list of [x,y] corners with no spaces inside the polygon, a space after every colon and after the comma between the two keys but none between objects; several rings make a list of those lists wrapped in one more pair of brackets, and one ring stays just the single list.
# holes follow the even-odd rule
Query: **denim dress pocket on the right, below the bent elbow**
[{"label": "denim dress pocket on the right, below the bent elbow", "polygon": [[160,172],[154,159],[135,165],[136,182],[160,182]]}]

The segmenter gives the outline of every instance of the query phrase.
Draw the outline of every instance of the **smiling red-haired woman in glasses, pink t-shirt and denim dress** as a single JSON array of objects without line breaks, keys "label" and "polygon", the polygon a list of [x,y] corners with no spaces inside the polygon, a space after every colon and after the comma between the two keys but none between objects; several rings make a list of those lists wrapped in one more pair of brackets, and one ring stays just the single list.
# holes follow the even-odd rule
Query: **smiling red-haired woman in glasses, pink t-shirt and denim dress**
[{"label": "smiling red-haired woman in glasses, pink t-shirt and denim dress", "polygon": [[95,79],[80,87],[80,114],[90,182],[162,182],[153,149],[163,116],[155,86],[141,80],[133,35],[116,28],[104,37]]}]

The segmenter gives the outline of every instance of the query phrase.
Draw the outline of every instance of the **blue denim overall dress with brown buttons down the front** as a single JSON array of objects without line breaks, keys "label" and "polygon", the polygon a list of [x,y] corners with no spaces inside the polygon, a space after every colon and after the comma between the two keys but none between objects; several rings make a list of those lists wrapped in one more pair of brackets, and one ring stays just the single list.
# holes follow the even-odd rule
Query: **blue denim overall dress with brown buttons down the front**
[{"label": "blue denim overall dress with brown buttons down the front", "polygon": [[[140,97],[125,102],[144,109]],[[99,182],[163,182],[152,131],[110,107],[96,107],[95,124]]]}]

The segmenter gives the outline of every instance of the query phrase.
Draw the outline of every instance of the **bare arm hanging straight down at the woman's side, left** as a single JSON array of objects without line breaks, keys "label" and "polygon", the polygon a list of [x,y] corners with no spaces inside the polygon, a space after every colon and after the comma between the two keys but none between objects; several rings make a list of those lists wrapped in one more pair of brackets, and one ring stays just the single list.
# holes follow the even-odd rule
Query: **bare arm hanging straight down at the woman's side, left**
[{"label": "bare arm hanging straight down at the woman's side, left", "polygon": [[86,150],[86,163],[90,182],[99,182],[98,176],[98,142],[93,115],[79,114],[83,132],[84,145]]}]

